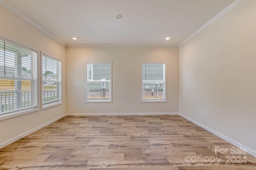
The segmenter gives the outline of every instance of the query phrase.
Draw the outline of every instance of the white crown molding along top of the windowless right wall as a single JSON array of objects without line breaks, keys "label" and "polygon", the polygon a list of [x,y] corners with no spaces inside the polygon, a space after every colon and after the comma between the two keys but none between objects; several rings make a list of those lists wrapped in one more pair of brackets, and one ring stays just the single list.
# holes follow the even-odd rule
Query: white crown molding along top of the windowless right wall
[{"label": "white crown molding along top of the windowless right wall", "polygon": [[211,25],[212,23],[214,23],[216,20],[218,20],[220,17],[222,17],[224,14],[226,14],[228,11],[230,11],[232,8],[234,8],[235,6],[237,6],[238,4],[240,4],[243,0],[235,0],[234,2],[232,2],[229,6],[227,6],[224,10],[222,10],[220,13],[218,13],[216,16],[214,16],[212,19],[210,19],[208,22],[206,22],[204,25],[202,25],[202,27],[200,27],[199,29],[197,29],[194,33],[192,33],[191,35],[189,35],[186,39],[184,39],[182,42],[180,42],[178,44],[178,47],[180,47],[180,45],[186,43],[188,40],[192,39],[192,37],[196,36],[198,33],[200,33],[201,31],[203,31],[204,29],[206,29],[206,27],[208,27],[209,25]]}]

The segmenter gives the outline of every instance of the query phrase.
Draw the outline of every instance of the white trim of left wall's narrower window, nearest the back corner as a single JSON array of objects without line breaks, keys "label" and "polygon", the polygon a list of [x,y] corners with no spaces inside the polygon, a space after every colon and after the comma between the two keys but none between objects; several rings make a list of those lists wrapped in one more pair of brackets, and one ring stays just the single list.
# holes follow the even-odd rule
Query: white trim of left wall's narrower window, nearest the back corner
[{"label": "white trim of left wall's narrower window, nearest the back corner", "polygon": [[[54,60],[58,60],[60,61],[61,63],[61,70],[60,70],[60,76],[61,76],[61,87],[60,87],[60,101],[58,102],[53,102],[53,103],[50,103],[50,104],[43,104],[43,98],[42,98],[42,95],[43,95],[43,76],[42,76],[42,72],[43,72],[43,55],[46,55],[47,57],[49,58],[52,58]],[[40,54],[40,57],[41,57],[41,70],[40,70],[40,76],[41,76],[41,109],[46,109],[46,108],[49,108],[49,107],[54,107],[54,106],[58,106],[58,105],[61,105],[62,104],[62,60],[57,58],[57,57],[53,57],[52,55],[48,54],[48,53],[44,53],[43,51],[41,51],[41,54]]]}]

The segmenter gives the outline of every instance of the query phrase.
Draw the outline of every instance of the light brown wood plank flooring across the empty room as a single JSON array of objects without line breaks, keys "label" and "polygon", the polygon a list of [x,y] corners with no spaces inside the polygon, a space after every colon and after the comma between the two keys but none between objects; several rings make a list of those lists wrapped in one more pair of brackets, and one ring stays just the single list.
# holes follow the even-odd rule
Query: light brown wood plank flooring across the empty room
[{"label": "light brown wood plank flooring across the empty room", "polygon": [[233,147],[179,115],[67,116],[0,149],[0,169],[256,170]]}]

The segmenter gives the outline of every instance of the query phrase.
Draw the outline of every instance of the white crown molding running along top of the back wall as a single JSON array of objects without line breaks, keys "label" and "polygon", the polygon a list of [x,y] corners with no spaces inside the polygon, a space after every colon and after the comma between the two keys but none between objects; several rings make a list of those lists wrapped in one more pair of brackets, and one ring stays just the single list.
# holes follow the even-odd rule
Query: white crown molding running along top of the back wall
[{"label": "white crown molding running along top of the back wall", "polygon": [[178,45],[105,45],[105,44],[68,44],[67,47],[178,47]]}]

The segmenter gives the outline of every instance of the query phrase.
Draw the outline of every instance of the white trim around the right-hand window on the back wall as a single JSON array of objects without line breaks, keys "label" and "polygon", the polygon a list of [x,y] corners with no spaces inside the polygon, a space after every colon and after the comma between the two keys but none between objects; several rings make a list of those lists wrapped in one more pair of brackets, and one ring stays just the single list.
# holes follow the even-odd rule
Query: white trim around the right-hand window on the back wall
[{"label": "white trim around the right-hand window on the back wall", "polygon": [[[164,67],[164,82],[165,82],[165,86],[164,86],[164,99],[158,99],[158,100],[143,100],[143,83],[142,83],[142,64],[143,63],[164,63],[165,67]],[[141,61],[140,63],[140,101],[141,102],[167,102],[167,92],[166,92],[166,86],[167,86],[167,81],[166,81],[166,61]]]}]

